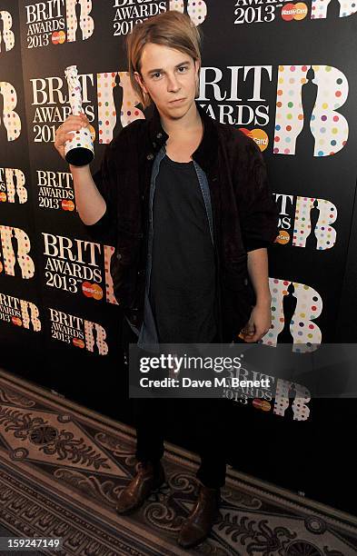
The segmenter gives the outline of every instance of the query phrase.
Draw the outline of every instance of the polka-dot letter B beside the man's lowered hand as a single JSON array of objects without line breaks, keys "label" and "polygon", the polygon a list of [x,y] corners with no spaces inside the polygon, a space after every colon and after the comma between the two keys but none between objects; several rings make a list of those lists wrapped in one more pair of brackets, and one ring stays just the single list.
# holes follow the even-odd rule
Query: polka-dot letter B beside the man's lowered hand
[{"label": "polka-dot letter B beside the man's lowered hand", "polygon": [[[263,336],[263,343],[273,347],[277,344],[277,336],[283,331],[283,296],[288,295],[288,286],[291,282],[269,278],[269,288],[272,294],[272,326]],[[295,291],[293,296],[297,299],[295,313],[290,323],[290,332],[293,335],[293,352],[313,352],[312,344],[322,342],[322,333],[319,326],[313,321],[322,313],[322,298],[312,287],[303,283],[293,282]],[[302,346],[297,344],[301,343]]]}]

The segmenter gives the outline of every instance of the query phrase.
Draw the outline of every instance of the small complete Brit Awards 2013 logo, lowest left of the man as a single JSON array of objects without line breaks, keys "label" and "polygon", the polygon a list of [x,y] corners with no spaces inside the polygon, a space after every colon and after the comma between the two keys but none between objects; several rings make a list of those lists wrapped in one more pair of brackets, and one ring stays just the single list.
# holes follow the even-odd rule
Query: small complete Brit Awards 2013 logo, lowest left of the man
[{"label": "small complete Brit Awards 2013 logo, lowest left of the man", "polygon": [[108,353],[106,332],[101,324],[87,321],[83,317],[64,313],[48,307],[51,323],[51,337],[54,340],[68,343],[79,349],[85,349],[98,355]]}]

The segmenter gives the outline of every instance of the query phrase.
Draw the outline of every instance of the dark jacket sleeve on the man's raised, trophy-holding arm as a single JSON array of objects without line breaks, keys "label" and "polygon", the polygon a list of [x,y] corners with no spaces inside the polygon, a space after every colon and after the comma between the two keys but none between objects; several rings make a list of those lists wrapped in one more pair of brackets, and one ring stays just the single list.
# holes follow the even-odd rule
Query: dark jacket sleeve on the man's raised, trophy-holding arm
[{"label": "dark jacket sleeve on the man's raised, trophy-holding arm", "polygon": [[99,169],[93,174],[94,184],[103,196],[106,209],[103,216],[93,224],[84,224],[85,232],[100,243],[116,244],[117,230],[117,187],[120,179],[114,164],[115,149],[112,141],[104,147]]}]

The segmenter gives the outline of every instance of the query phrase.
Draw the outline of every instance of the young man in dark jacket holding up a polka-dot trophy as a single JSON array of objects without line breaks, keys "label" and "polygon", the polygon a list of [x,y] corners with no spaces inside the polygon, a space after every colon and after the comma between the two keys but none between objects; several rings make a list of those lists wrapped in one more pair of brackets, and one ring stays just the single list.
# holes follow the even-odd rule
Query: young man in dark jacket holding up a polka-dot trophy
[{"label": "young man in dark jacket holding up a polka-dot trophy", "polygon": [[[259,147],[195,101],[200,38],[189,16],[175,11],[136,25],[127,41],[129,72],[153,115],[114,137],[93,178],[89,166],[70,166],[86,229],[115,245],[111,272],[124,310],[124,350],[132,342],[257,342],[271,326],[266,247],[278,233],[277,209]],[[77,123],[88,121],[69,116],[60,126],[61,155],[66,131]],[[178,537],[190,548],[218,514],[226,401],[135,400],[139,462],[116,511],[139,508],[164,482],[163,422],[173,402],[178,414],[194,412],[201,456],[198,498]]]}]

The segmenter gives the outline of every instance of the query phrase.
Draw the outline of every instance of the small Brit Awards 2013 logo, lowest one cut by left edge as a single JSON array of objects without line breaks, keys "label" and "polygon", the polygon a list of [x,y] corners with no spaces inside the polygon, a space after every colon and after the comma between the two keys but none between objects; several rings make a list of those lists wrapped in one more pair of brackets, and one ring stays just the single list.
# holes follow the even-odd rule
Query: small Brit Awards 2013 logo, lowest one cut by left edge
[{"label": "small Brit Awards 2013 logo, lowest one cut by left edge", "polygon": [[35,303],[9,293],[0,293],[0,321],[40,332],[42,327],[39,316]]}]

